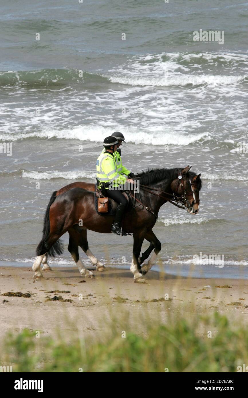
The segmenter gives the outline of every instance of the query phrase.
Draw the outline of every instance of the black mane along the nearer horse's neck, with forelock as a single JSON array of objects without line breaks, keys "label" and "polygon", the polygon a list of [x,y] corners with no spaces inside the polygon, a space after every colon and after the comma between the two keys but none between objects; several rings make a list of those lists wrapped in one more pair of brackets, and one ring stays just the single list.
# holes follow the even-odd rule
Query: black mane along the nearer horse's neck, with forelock
[{"label": "black mane along the nearer horse's neck, with forelock", "polygon": [[[174,169],[147,169],[146,171],[142,171],[141,173],[138,173],[135,175],[134,179],[139,179],[139,182],[142,185],[149,185],[151,183],[156,183],[159,181],[162,181],[163,179],[169,178],[169,179],[174,179],[179,176],[179,174],[182,172],[183,168],[174,168]],[[197,176],[197,174],[189,171],[187,172],[186,176],[188,178],[193,178],[194,176]],[[201,179],[199,178],[197,180],[197,188],[200,190],[201,189]]]}]

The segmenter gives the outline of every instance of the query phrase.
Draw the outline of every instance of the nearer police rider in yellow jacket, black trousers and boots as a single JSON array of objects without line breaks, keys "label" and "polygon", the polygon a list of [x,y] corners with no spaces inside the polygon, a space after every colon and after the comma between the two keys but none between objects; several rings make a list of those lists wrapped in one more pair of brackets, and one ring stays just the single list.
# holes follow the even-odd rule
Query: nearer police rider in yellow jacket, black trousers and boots
[{"label": "nearer police rider in yellow jacket, black trousers and boots", "polygon": [[[124,137],[119,140],[120,142],[124,141]],[[111,227],[111,232],[117,235],[121,234],[121,220],[128,204],[127,199],[118,187],[125,182],[134,183],[132,179],[127,178],[131,172],[122,166],[121,156],[117,152],[117,147],[120,144],[113,136],[105,138],[103,141],[104,149],[96,162],[98,188],[103,191],[104,195],[118,203],[114,223]],[[128,174],[126,174],[127,172]]]}]

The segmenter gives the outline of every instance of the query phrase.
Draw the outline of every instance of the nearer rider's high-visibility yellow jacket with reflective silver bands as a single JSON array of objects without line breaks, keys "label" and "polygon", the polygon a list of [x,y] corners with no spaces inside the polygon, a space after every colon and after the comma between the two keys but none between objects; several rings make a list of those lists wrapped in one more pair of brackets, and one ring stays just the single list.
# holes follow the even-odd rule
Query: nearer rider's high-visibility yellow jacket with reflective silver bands
[{"label": "nearer rider's high-visibility yellow jacket with reflective silver bands", "polygon": [[127,178],[120,174],[117,168],[115,154],[102,152],[96,161],[96,176],[98,181],[111,183],[112,187],[124,184]]}]

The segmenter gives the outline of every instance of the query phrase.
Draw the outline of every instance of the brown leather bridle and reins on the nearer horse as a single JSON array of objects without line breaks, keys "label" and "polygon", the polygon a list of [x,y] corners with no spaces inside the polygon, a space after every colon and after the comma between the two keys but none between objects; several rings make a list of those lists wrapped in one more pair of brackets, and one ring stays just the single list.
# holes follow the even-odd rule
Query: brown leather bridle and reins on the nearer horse
[{"label": "brown leather bridle and reins on the nearer horse", "polygon": [[[182,180],[182,181],[181,181],[181,180]],[[181,182],[180,182],[180,181],[181,181]],[[176,193],[171,194],[171,193],[162,191],[161,189],[151,188],[151,187],[148,187],[147,185],[139,184],[139,186],[142,187],[144,191],[149,192],[149,193],[151,193],[152,195],[156,195],[156,196],[158,196],[158,197],[161,197],[162,199],[166,199],[166,201],[170,202],[172,205],[177,206],[177,207],[179,207],[180,209],[184,209],[184,210],[186,210],[186,207],[180,206],[180,205],[178,205],[178,203],[182,203],[182,205],[183,205],[183,204],[186,202],[186,200],[187,200],[187,196],[190,196],[190,195],[192,194],[192,193],[187,193],[187,192],[186,192],[186,189],[185,189],[185,186],[184,186],[184,180],[183,180],[183,178],[182,178],[182,173],[179,173],[179,175],[178,175],[178,185],[177,185],[177,188],[176,188],[176,193],[177,193],[179,186],[182,187],[182,189],[183,189],[183,195],[181,195],[181,196],[176,195]],[[157,192],[160,192],[160,193],[165,194],[165,195],[167,195],[167,196],[160,195],[160,194],[155,193],[155,192],[152,192],[152,191],[157,191]],[[130,194],[131,197],[133,197],[133,199],[134,199],[134,200],[133,200],[133,207],[134,207],[135,201],[137,201],[137,202],[139,202],[141,205],[143,205],[143,203],[142,203],[139,199],[137,199],[137,198],[135,197],[135,191],[134,191],[134,195],[132,195],[131,190],[129,191],[129,194]],[[170,197],[168,197],[168,196],[170,196]],[[135,206],[135,207],[137,207],[137,206]],[[143,207],[145,207],[145,206],[143,205]],[[149,211],[150,213],[154,214],[156,218],[158,218],[158,215],[156,215],[156,214],[154,213],[154,211],[152,211],[152,209],[150,209],[149,207],[145,207],[145,209],[146,209],[147,211]]]}]

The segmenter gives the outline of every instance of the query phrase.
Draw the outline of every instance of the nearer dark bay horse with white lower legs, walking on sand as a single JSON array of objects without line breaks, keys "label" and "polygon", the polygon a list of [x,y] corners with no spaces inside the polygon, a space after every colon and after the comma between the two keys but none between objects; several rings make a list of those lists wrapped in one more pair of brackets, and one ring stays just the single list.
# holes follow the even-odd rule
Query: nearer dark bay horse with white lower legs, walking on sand
[{"label": "nearer dark bay horse with white lower legs, walking on sand", "polygon": [[[185,169],[157,169],[143,172],[135,179],[138,179],[140,184],[148,184],[150,189],[152,187],[166,191],[167,193],[175,193],[180,195],[182,187],[178,184],[178,176],[182,174],[182,180],[187,192],[187,201],[185,203],[188,211],[195,214],[196,211],[192,207],[199,206],[199,189],[201,189],[200,175],[196,176],[189,172],[189,167]],[[194,194],[191,187],[195,185],[198,191],[198,196]],[[86,191],[86,189],[88,191]],[[43,238],[37,247],[37,258],[33,264],[35,277],[41,277],[40,265],[43,263],[42,270],[50,269],[47,264],[47,252],[54,256],[55,253],[61,254],[62,248],[59,242],[60,236],[66,231],[69,232],[70,240],[68,250],[72,254],[74,261],[78,265],[81,275],[92,277],[92,272],[85,269],[82,261],[79,258],[78,246],[80,246],[86,255],[91,259],[92,264],[96,265],[97,270],[103,270],[104,266],[93,256],[88,247],[87,229],[96,232],[111,233],[111,224],[113,217],[102,216],[96,213],[94,208],[94,184],[87,184],[84,182],[77,182],[67,185],[66,187],[55,191],[51,197],[50,203],[45,214]],[[156,193],[154,193],[156,195]],[[198,197],[198,201],[197,201]],[[125,216],[125,230],[126,232],[133,232],[134,247],[133,247],[133,261],[131,264],[131,271],[134,274],[135,281],[140,281],[143,275],[148,272],[155,262],[158,252],[161,250],[161,244],[154,235],[152,227],[156,222],[156,216],[162,204],[166,203],[163,197],[152,193],[142,192],[142,205],[135,209],[135,216],[131,215],[134,211],[131,206],[127,209]],[[198,202],[198,203],[196,203]],[[144,204],[144,205],[143,205]],[[150,209],[154,212],[149,212],[146,205],[150,205]],[[147,207],[148,208],[148,207]],[[83,221],[83,222],[82,222]],[[83,225],[80,225],[80,222]],[[143,240],[150,242],[149,248],[142,254],[140,251]],[[147,265],[141,264],[150,255],[154,249],[154,254]]]}]

